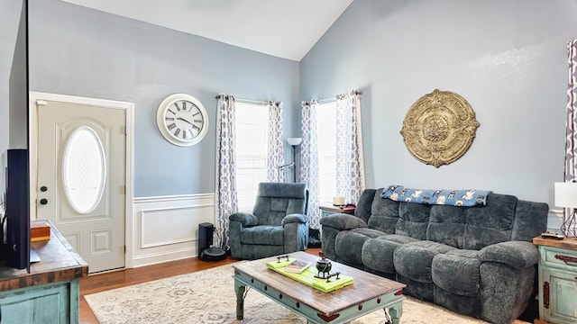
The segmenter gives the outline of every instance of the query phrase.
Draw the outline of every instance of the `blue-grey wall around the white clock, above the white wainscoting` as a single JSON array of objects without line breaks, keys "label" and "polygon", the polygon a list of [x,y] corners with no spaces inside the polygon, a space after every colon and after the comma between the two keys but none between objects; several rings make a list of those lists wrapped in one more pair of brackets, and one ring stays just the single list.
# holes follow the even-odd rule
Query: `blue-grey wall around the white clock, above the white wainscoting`
[{"label": "blue-grey wall around the white clock, above the white wainscoting", "polygon": [[[292,123],[298,62],[57,0],[29,9],[32,91],[134,103],[136,197],[214,193],[215,94],[282,101]],[[196,146],[169,144],[157,129],[158,105],[174,93],[194,95],[210,116]]]}]

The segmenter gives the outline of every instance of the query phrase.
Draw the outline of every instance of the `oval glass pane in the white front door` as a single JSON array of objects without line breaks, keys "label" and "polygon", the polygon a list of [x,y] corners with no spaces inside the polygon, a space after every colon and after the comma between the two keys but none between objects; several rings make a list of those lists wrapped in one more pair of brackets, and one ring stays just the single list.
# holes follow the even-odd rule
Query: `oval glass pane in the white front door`
[{"label": "oval glass pane in the white front door", "polygon": [[62,183],[75,211],[87,214],[96,209],[105,189],[106,158],[96,131],[80,126],[72,131],[62,157]]}]

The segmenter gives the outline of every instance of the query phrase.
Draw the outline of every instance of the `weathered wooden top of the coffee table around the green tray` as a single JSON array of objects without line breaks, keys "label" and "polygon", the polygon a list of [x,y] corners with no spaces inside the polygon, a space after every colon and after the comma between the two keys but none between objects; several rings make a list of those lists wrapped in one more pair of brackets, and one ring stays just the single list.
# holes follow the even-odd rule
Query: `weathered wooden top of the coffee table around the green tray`
[{"label": "weathered wooden top of the coffee table around the green tray", "polygon": [[[310,261],[312,266],[315,266],[316,261],[320,258],[306,252],[289,253],[289,257]],[[402,290],[405,288],[405,284],[331,261],[333,266],[331,273],[340,272],[342,275],[350,275],[353,277],[353,284],[331,293],[323,293],[270,270],[266,266],[267,262],[270,261],[277,261],[277,257],[265,257],[259,260],[236,263],[233,265],[234,273],[251,276],[262,284],[266,284],[270,288],[276,289],[325,314],[343,311],[352,305],[369,301],[383,294],[402,294]]]}]

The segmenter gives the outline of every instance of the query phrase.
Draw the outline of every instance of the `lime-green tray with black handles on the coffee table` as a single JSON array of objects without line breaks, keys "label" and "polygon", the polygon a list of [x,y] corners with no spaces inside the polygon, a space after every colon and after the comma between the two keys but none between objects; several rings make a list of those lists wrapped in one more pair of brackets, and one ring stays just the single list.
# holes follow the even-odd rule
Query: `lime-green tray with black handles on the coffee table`
[{"label": "lime-green tray with black handles on the coffee table", "polygon": [[296,274],[286,271],[286,266],[289,266],[296,258],[289,258],[287,261],[270,261],[267,262],[267,267],[270,270],[278,272],[280,275],[286,275],[291,279],[298,281],[301,284],[313,287],[323,293],[330,293],[337,289],[343,288],[349,284],[353,284],[353,277],[350,275],[334,275],[329,279],[316,277],[316,268],[308,266],[302,273]]}]

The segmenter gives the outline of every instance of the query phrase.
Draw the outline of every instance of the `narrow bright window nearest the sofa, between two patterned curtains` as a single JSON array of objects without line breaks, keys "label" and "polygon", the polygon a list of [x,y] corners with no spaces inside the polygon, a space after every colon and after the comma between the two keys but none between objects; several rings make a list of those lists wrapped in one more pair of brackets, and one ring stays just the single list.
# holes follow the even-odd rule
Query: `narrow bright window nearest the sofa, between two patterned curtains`
[{"label": "narrow bright window nearest the sofa, between two patterned curtains", "polygon": [[316,114],[319,200],[331,205],[336,195],[336,102],[319,103]]}]

